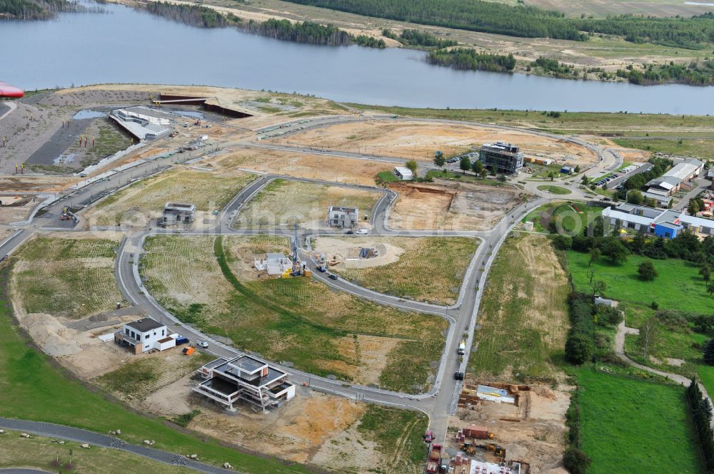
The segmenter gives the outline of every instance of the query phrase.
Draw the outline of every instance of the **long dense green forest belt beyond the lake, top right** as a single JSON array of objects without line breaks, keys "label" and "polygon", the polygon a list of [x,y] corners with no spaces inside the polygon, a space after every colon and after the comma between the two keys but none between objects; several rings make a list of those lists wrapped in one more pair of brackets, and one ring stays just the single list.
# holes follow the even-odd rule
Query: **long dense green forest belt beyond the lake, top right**
[{"label": "long dense green forest belt beyond the lake, top right", "polygon": [[288,0],[378,18],[483,31],[526,38],[586,41],[588,34],[613,34],[627,41],[701,48],[714,42],[714,15],[652,18],[635,15],[606,19],[565,18],[535,6],[482,0]]}]

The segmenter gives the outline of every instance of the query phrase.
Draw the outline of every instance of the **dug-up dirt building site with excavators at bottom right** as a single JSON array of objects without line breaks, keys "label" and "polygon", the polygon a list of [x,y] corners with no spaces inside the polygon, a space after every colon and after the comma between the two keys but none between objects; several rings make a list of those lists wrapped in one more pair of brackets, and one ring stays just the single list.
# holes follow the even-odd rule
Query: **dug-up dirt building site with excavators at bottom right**
[{"label": "dug-up dirt building site with excavators at bottom right", "polygon": [[[470,387],[476,388],[475,384],[469,381]],[[495,435],[493,441],[506,448],[506,461],[530,464],[531,474],[565,474],[562,459],[565,411],[569,405],[567,391],[553,391],[547,386],[531,386],[531,391],[521,391],[518,406],[491,401],[460,404],[456,415],[449,421],[447,450],[455,452],[460,447],[454,438],[458,429],[466,428],[468,424],[486,426]],[[481,449],[473,458],[493,460]]]}]

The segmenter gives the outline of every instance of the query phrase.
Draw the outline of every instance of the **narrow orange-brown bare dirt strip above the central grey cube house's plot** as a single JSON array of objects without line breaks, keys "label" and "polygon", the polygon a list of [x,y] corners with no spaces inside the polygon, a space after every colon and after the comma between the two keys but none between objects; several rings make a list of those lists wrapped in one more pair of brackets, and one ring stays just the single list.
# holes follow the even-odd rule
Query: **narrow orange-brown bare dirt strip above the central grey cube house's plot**
[{"label": "narrow orange-brown bare dirt strip above the central grey cube house's plot", "polygon": [[217,169],[243,168],[355,185],[374,185],[378,172],[391,169],[388,163],[250,148],[233,150],[212,163]]}]

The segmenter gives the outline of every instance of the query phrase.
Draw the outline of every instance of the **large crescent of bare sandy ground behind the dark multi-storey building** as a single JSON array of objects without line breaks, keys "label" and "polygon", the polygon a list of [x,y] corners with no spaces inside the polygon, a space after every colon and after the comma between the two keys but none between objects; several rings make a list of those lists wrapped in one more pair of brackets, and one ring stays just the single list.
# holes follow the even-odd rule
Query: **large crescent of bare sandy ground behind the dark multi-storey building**
[{"label": "large crescent of bare sandy ground behind the dark multi-storey building", "polygon": [[526,132],[479,125],[370,120],[338,123],[290,135],[278,143],[310,145],[333,150],[432,161],[434,151],[446,156],[467,153],[483,143],[502,141],[521,147],[526,155],[543,156],[562,163],[595,163],[598,156],[580,145]]}]

